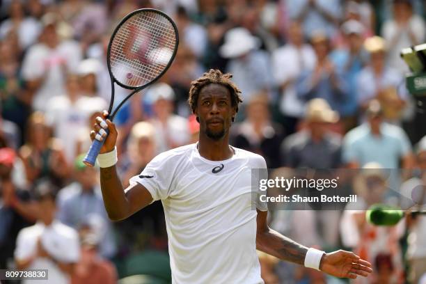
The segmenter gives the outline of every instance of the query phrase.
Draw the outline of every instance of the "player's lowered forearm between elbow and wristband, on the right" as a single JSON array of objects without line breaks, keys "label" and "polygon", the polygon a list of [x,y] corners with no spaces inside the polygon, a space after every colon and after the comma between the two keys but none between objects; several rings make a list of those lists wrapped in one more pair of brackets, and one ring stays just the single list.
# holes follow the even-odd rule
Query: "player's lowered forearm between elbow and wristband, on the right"
[{"label": "player's lowered forearm between elbow and wristband, on the right", "polygon": [[256,245],[259,251],[299,265],[304,264],[308,252],[306,246],[302,246],[270,228],[265,232],[258,233]]}]

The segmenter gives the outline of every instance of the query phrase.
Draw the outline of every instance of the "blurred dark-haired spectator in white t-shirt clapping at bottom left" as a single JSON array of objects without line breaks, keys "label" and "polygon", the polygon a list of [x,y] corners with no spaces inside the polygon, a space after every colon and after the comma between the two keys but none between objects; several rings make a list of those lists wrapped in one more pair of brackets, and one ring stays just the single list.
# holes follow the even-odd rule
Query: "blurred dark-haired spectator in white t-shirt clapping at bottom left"
[{"label": "blurred dark-haired spectator in white t-shirt clapping at bottom left", "polygon": [[[17,237],[17,269],[48,269],[46,283],[69,283],[74,265],[79,261],[77,231],[55,219],[55,188],[49,180],[36,185],[38,222],[22,229]],[[31,283],[31,280],[22,283]]]}]

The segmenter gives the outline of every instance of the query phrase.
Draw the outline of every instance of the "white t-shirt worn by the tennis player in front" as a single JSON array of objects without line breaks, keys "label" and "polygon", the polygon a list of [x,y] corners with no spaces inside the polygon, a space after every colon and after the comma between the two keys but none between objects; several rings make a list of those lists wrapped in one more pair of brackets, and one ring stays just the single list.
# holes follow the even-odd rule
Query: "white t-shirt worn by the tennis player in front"
[{"label": "white t-shirt worn by the tennis player in front", "polygon": [[196,144],[175,148],[130,180],[163,203],[175,284],[263,283],[255,208],[267,211],[267,205],[252,199],[251,168],[266,168],[266,162],[233,149],[230,159],[210,161]]}]

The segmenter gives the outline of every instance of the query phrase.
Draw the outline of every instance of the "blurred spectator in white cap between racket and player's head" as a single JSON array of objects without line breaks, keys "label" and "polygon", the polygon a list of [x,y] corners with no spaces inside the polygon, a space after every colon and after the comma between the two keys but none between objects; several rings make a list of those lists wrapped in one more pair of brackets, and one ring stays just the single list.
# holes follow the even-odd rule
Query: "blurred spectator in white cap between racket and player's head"
[{"label": "blurred spectator in white cap between racket and player's head", "polygon": [[156,84],[150,88],[147,96],[154,111],[150,123],[155,128],[157,153],[186,144],[189,141],[187,120],[173,114],[175,93],[171,86]]}]

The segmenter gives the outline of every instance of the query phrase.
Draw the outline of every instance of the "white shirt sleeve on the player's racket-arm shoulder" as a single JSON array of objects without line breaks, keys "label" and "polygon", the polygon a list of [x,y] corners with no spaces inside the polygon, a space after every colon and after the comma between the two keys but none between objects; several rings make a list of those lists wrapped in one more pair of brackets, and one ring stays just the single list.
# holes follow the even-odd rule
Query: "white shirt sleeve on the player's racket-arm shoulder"
[{"label": "white shirt sleeve on the player's racket-arm shoulder", "polygon": [[139,183],[151,194],[152,202],[165,200],[171,194],[171,185],[175,173],[174,163],[168,152],[163,152],[143,169],[140,175],[135,175],[129,184]]}]

